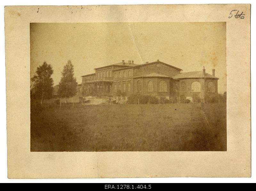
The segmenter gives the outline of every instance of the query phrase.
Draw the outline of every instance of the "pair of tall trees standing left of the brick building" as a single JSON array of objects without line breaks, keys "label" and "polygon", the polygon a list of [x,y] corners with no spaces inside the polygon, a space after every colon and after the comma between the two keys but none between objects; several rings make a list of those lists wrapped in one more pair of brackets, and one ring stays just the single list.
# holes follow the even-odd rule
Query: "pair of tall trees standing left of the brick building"
[{"label": "pair of tall trees standing left of the brick building", "polygon": [[[31,78],[33,88],[30,90],[30,98],[39,100],[42,105],[44,99],[52,98],[53,93],[53,79],[52,79],[52,65],[44,62],[37,67],[36,74]],[[76,95],[76,77],[74,77],[74,66],[68,60],[61,72],[61,79],[59,83],[58,93],[61,98],[67,98]]]}]

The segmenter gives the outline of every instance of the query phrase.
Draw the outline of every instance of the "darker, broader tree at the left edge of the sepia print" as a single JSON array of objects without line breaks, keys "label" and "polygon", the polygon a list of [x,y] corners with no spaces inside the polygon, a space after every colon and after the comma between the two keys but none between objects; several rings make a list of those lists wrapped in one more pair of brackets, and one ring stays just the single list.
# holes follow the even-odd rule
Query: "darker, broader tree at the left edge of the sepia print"
[{"label": "darker, broader tree at the left edge of the sepia print", "polygon": [[31,78],[33,84],[33,93],[36,98],[41,99],[41,105],[44,99],[52,97],[53,79],[52,79],[52,66],[46,62],[37,67],[36,75]]}]

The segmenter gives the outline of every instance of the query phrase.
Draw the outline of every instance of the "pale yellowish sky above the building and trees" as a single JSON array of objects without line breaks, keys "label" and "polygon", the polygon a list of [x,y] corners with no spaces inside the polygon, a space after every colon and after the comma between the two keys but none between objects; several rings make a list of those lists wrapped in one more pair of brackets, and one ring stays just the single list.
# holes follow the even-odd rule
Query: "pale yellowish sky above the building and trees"
[{"label": "pale yellowish sky above the building and trees", "polygon": [[157,23],[31,23],[30,76],[47,62],[53,68],[54,85],[71,60],[78,83],[94,68],[128,62],[161,62],[200,71],[218,80],[218,92],[226,91],[226,22]]}]

